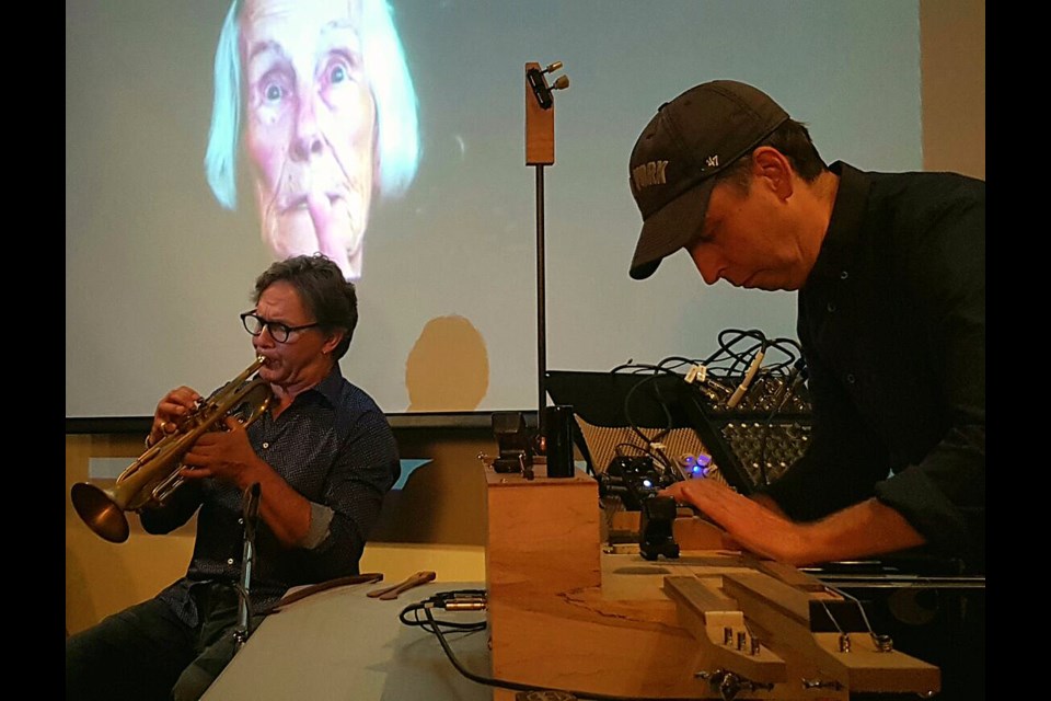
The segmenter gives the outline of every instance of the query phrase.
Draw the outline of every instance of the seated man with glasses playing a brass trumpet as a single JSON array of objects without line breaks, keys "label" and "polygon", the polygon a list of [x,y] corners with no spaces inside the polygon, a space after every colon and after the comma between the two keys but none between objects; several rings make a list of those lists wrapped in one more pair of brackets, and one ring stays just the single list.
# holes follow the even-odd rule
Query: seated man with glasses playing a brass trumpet
[{"label": "seated man with glasses playing a brass trumpet", "polygon": [[[195,513],[186,575],[157,597],[66,642],[68,699],[196,699],[236,650],[241,522],[259,485],[250,586],[254,623],[290,587],[358,573],[383,495],[399,476],[383,412],[339,371],[358,321],[355,287],[321,255],[273,264],[241,315],[273,398],[247,427],[205,433],[186,453],[186,479],[140,514],[165,533]],[[148,445],[178,430],[201,397],[188,387],[157,405]]]}]

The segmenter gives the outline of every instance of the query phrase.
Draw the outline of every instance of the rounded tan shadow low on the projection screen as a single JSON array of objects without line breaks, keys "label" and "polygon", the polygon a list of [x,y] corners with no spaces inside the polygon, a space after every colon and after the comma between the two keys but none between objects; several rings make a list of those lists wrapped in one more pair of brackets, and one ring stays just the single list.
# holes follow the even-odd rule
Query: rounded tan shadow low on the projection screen
[{"label": "rounded tan shadow low on the projection screen", "polygon": [[464,317],[436,317],[424,325],[405,360],[411,412],[465,412],[489,389],[485,340]]}]

